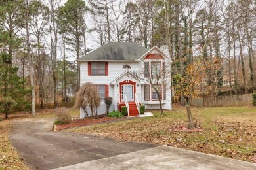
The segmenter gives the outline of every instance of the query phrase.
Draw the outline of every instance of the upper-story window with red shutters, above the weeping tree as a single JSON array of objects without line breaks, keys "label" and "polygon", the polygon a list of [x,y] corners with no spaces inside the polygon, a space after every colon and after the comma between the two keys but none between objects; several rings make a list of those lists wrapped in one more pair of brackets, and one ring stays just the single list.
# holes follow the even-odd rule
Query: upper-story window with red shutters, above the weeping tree
[{"label": "upper-story window with red shutters, above the weeping tree", "polygon": [[107,76],[108,63],[106,62],[89,62],[88,63],[89,76]]}]

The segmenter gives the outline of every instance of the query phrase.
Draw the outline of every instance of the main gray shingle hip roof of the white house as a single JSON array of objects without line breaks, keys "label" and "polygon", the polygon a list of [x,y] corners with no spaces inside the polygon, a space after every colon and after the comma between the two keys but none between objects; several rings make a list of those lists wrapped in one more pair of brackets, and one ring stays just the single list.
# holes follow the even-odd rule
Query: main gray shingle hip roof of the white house
[{"label": "main gray shingle hip roof of the white house", "polygon": [[147,48],[136,44],[135,42],[108,42],[108,44],[90,52],[77,61],[89,60],[128,60],[139,59],[144,53],[148,52]]}]

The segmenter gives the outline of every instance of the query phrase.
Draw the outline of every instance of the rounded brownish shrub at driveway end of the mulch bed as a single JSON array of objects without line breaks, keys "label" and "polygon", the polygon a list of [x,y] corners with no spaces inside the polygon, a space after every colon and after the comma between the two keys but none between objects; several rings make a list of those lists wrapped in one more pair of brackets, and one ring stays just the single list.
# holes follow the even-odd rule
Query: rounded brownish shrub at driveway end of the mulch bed
[{"label": "rounded brownish shrub at driveway end of the mulch bed", "polygon": [[70,110],[66,107],[60,107],[54,109],[55,112],[55,122],[54,124],[70,124],[72,122]]}]

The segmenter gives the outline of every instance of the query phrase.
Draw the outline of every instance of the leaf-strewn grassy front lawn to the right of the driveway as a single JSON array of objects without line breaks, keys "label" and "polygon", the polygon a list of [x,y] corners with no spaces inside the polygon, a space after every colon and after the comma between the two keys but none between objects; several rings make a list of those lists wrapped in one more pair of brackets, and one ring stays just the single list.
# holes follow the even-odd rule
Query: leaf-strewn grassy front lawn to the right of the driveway
[{"label": "leaf-strewn grassy front lawn to the right of the driveway", "polygon": [[252,161],[256,156],[256,108],[194,108],[194,118],[202,131],[175,131],[188,124],[186,111],[178,108],[160,116],[139,118],[113,124],[69,129],[95,133],[127,141],[167,144],[188,150]]}]

